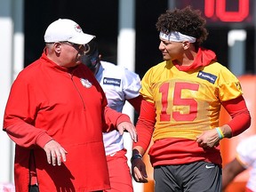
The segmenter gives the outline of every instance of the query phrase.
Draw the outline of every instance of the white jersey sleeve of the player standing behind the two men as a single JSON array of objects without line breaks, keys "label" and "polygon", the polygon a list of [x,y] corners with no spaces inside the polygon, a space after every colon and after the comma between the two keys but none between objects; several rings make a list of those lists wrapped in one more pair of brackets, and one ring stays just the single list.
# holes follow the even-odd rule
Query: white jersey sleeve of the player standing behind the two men
[{"label": "white jersey sleeve of the player standing behind the two men", "polygon": [[124,68],[124,95],[126,100],[131,100],[140,95],[140,76]]}]

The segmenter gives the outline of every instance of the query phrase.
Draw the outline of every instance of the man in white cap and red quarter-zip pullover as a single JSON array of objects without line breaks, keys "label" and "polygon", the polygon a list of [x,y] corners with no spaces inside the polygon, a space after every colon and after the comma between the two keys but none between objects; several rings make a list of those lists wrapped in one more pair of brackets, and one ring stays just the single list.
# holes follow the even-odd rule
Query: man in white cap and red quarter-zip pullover
[{"label": "man in white cap and red quarter-zip pullover", "polygon": [[117,126],[137,140],[129,116],[106,107],[100,84],[81,64],[94,37],[73,20],[55,20],[42,56],[12,84],[4,131],[16,143],[17,192],[108,189],[102,132]]}]

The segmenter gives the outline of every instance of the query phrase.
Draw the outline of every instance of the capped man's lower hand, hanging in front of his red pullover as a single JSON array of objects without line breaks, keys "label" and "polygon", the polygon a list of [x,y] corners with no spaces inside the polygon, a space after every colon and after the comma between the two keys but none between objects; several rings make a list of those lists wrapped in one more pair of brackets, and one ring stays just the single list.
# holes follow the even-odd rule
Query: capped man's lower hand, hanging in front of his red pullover
[{"label": "capped man's lower hand, hanging in front of his red pullover", "polygon": [[68,152],[65,148],[62,148],[58,142],[55,140],[50,140],[44,146],[44,151],[47,156],[48,164],[52,164],[53,166],[61,164],[61,160],[66,162],[66,155]]}]

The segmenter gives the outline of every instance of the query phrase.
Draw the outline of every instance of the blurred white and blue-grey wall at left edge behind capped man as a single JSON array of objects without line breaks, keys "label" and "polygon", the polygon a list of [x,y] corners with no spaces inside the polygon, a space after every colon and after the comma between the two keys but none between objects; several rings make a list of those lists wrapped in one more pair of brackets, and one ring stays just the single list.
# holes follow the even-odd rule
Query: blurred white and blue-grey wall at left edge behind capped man
[{"label": "blurred white and blue-grey wall at left edge behind capped man", "polygon": [[[5,103],[17,73],[23,68],[23,0],[0,0],[0,122],[3,124]],[[13,181],[13,143],[0,132],[0,183]]]}]

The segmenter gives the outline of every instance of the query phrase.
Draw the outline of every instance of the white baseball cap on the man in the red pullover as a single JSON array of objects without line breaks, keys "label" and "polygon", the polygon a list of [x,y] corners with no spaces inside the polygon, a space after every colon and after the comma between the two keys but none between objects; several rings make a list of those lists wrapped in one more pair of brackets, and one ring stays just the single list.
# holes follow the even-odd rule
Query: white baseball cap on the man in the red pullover
[{"label": "white baseball cap on the man in the red pullover", "polygon": [[44,34],[45,43],[68,41],[73,44],[88,44],[93,38],[89,34],[84,34],[82,28],[74,21],[59,19],[53,21]]}]

